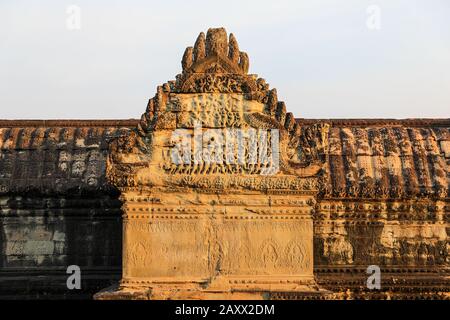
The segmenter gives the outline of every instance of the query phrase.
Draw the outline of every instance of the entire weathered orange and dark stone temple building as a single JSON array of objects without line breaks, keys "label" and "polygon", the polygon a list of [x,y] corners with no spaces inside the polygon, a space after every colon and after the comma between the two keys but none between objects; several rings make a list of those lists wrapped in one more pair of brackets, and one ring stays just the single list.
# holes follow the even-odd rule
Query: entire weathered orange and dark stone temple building
[{"label": "entire weathered orange and dark stone temple building", "polygon": [[[450,120],[295,119],[248,65],[210,29],[140,120],[0,121],[0,295],[66,295],[70,264],[92,294],[122,264],[97,298],[448,298]],[[196,123],[279,130],[279,172],[173,164]]]}]

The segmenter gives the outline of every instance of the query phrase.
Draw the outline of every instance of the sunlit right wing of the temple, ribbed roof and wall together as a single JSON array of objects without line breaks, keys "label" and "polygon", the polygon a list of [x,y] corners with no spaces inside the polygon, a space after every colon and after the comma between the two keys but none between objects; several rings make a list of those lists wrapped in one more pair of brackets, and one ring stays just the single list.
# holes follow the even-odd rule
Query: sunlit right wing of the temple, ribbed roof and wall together
[{"label": "sunlit right wing of the temple, ribbed roof and wall together", "polygon": [[377,265],[385,296],[448,292],[449,130],[405,124],[332,126],[314,229],[323,285],[358,295]]}]

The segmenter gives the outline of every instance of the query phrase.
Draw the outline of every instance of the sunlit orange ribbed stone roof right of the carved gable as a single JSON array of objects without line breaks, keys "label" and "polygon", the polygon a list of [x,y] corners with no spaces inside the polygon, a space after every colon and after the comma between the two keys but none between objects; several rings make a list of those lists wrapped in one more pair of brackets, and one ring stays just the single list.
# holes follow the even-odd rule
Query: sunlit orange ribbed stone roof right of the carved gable
[{"label": "sunlit orange ribbed stone roof right of the carved gable", "polygon": [[328,197],[448,197],[449,120],[332,121],[328,142]]}]

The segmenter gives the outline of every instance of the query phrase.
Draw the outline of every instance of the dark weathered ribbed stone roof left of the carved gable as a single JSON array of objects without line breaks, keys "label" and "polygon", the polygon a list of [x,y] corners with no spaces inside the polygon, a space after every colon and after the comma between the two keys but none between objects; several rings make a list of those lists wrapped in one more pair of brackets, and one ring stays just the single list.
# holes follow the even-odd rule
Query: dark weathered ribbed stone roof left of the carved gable
[{"label": "dark weathered ribbed stone roof left of the carved gable", "polygon": [[1,120],[0,194],[72,194],[110,190],[108,141],[135,120]]}]

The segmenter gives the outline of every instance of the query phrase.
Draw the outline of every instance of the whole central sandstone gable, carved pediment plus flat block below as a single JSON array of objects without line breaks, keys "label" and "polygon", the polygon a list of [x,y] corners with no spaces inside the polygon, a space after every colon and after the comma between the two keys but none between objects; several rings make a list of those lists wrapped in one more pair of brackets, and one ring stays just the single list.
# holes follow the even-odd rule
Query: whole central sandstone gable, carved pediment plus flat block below
[{"label": "whole central sandstone gable, carved pediment plus flat block below", "polygon": [[108,177],[124,203],[123,292],[320,294],[311,212],[327,125],[301,127],[275,89],[247,74],[248,56],[222,28],[201,33],[182,66],[136,130],[111,145]]}]

